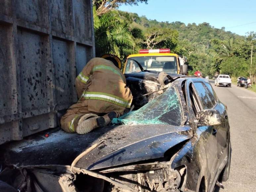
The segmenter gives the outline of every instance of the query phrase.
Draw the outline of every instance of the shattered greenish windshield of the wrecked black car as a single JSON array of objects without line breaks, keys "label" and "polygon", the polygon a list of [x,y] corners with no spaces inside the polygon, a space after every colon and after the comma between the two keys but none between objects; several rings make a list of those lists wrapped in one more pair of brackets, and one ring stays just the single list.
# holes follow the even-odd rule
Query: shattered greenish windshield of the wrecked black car
[{"label": "shattered greenish windshield of the wrecked black car", "polygon": [[174,87],[147,103],[136,111],[129,112],[112,124],[169,124],[179,126],[182,122],[182,111],[177,91]]}]

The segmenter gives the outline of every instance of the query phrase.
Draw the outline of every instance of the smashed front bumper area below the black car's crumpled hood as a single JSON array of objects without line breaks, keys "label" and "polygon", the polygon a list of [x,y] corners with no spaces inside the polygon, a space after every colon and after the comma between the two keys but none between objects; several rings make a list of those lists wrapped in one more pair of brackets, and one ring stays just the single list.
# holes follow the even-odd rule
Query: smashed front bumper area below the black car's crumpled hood
[{"label": "smashed front bumper area below the black car's crumpled hood", "polygon": [[90,171],[71,166],[24,167],[16,177],[19,191],[179,191],[185,168],[170,162],[129,165]]}]

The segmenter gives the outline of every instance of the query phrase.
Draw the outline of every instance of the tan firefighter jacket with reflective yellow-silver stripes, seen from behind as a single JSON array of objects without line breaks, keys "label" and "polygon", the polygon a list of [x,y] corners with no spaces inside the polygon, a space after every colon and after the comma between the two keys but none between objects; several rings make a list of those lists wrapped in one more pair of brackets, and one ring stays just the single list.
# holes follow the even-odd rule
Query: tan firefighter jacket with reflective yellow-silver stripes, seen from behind
[{"label": "tan firefighter jacket with reflective yellow-silver stripes, seen from behind", "polygon": [[130,108],[132,95],[125,75],[111,61],[91,59],[76,78],[77,95],[88,100],[88,111],[123,114]]}]

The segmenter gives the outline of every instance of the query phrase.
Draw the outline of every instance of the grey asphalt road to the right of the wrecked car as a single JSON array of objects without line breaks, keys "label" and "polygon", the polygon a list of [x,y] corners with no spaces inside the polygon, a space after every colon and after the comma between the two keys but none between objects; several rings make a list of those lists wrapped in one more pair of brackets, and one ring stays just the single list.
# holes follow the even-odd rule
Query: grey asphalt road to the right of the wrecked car
[{"label": "grey asphalt road to the right of the wrecked car", "polygon": [[256,93],[235,85],[217,87],[210,82],[228,107],[230,123],[230,177],[220,192],[256,191]]}]

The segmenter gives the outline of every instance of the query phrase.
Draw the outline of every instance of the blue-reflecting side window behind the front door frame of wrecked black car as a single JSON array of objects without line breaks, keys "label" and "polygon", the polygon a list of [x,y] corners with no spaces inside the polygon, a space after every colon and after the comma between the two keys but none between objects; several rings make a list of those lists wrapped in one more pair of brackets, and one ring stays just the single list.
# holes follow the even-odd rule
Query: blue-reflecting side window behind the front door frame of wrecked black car
[{"label": "blue-reflecting side window behind the front door frame of wrecked black car", "polygon": [[213,96],[202,82],[194,82],[197,94],[201,100],[203,109],[211,109],[215,105]]}]

